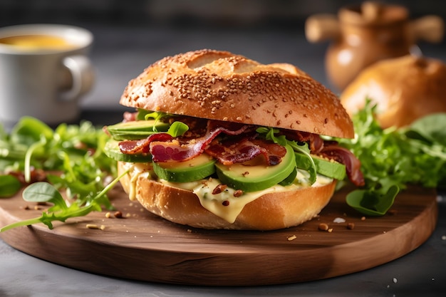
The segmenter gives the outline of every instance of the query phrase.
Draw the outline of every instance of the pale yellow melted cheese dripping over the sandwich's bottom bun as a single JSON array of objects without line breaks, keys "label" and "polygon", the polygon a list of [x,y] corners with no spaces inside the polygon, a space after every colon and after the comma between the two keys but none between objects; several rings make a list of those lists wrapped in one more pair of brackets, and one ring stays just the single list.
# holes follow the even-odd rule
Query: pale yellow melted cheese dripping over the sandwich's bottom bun
[{"label": "pale yellow melted cheese dripping over the sandwich's bottom bun", "polygon": [[[197,195],[202,207],[209,210],[213,214],[225,219],[229,223],[234,223],[240,212],[246,204],[254,201],[255,199],[269,193],[278,193],[286,191],[295,191],[302,187],[309,187],[310,182],[308,180],[308,172],[304,170],[298,170],[296,179],[293,184],[283,187],[276,184],[274,187],[264,189],[258,192],[247,192],[240,197],[234,197],[235,189],[227,187],[220,194],[212,194],[212,191],[222,182],[219,179],[209,178],[202,179],[196,182],[167,182],[165,179],[157,179],[155,174],[152,173],[152,167],[147,163],[126,163],[126,169],[133,170],[133,178],[130,180],[130,192],[129,198],[135,199],[135,187],[138,177],[143,176],[147,179],[154,179],[157,182],[166,184],[170,187],[178,187],[180,189],[187,189]],[[333,179],[318,175],[316,182],[311,187],[321,187],[333,182]]]}]

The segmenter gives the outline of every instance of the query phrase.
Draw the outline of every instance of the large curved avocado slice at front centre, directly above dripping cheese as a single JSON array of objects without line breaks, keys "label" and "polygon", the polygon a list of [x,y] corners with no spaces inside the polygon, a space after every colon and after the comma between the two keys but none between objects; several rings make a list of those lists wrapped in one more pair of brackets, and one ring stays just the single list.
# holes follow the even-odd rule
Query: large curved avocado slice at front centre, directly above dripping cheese
[{"label": "large curved avocado slice at front centre, directly above dripping cheese", "polygon": [[[217,163],[217,175],[222,183],[244,192],[261,191],[282,182],[296,169],[294,150],[286,145],[286,155],[278,165],[264,165],[263,156],[249,162],[234,163],[229,166]],[[258,159],[259,158],[259,159]]]}]

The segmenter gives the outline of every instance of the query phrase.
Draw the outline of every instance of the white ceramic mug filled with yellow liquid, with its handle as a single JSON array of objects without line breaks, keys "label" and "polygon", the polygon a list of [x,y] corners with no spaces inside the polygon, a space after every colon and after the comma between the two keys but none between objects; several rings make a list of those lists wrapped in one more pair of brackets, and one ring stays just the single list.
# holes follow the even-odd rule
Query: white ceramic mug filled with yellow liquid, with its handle
[{"label": "white ceramic mug filled with yellow liquid, with its handle", "polygon": [[88,58],[93,34],[58,24],[0,28],[0,122],[29,115],[49,125],[71,123],[94,83]]}]

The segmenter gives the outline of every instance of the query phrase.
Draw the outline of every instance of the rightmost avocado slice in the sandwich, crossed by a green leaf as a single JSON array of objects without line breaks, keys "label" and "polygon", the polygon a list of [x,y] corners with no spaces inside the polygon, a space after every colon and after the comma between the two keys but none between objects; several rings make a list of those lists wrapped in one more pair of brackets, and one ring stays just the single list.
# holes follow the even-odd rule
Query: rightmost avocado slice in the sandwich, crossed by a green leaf
[{"label": "rightmost avocado slice in the sandwich, crossed by a green leaf", "polygon": [[[311,166],[310,160],[306,155],[299,152],[295,153],[296,166],[303,170],[308,170]],[[311,158],[316,165],[316,172],[318,174],[325,175],[326,177],[331,177],[333,179],[342,180],[346,177],[346,166],[333,160],[325,160],[321,157],[311,155]]]}]

